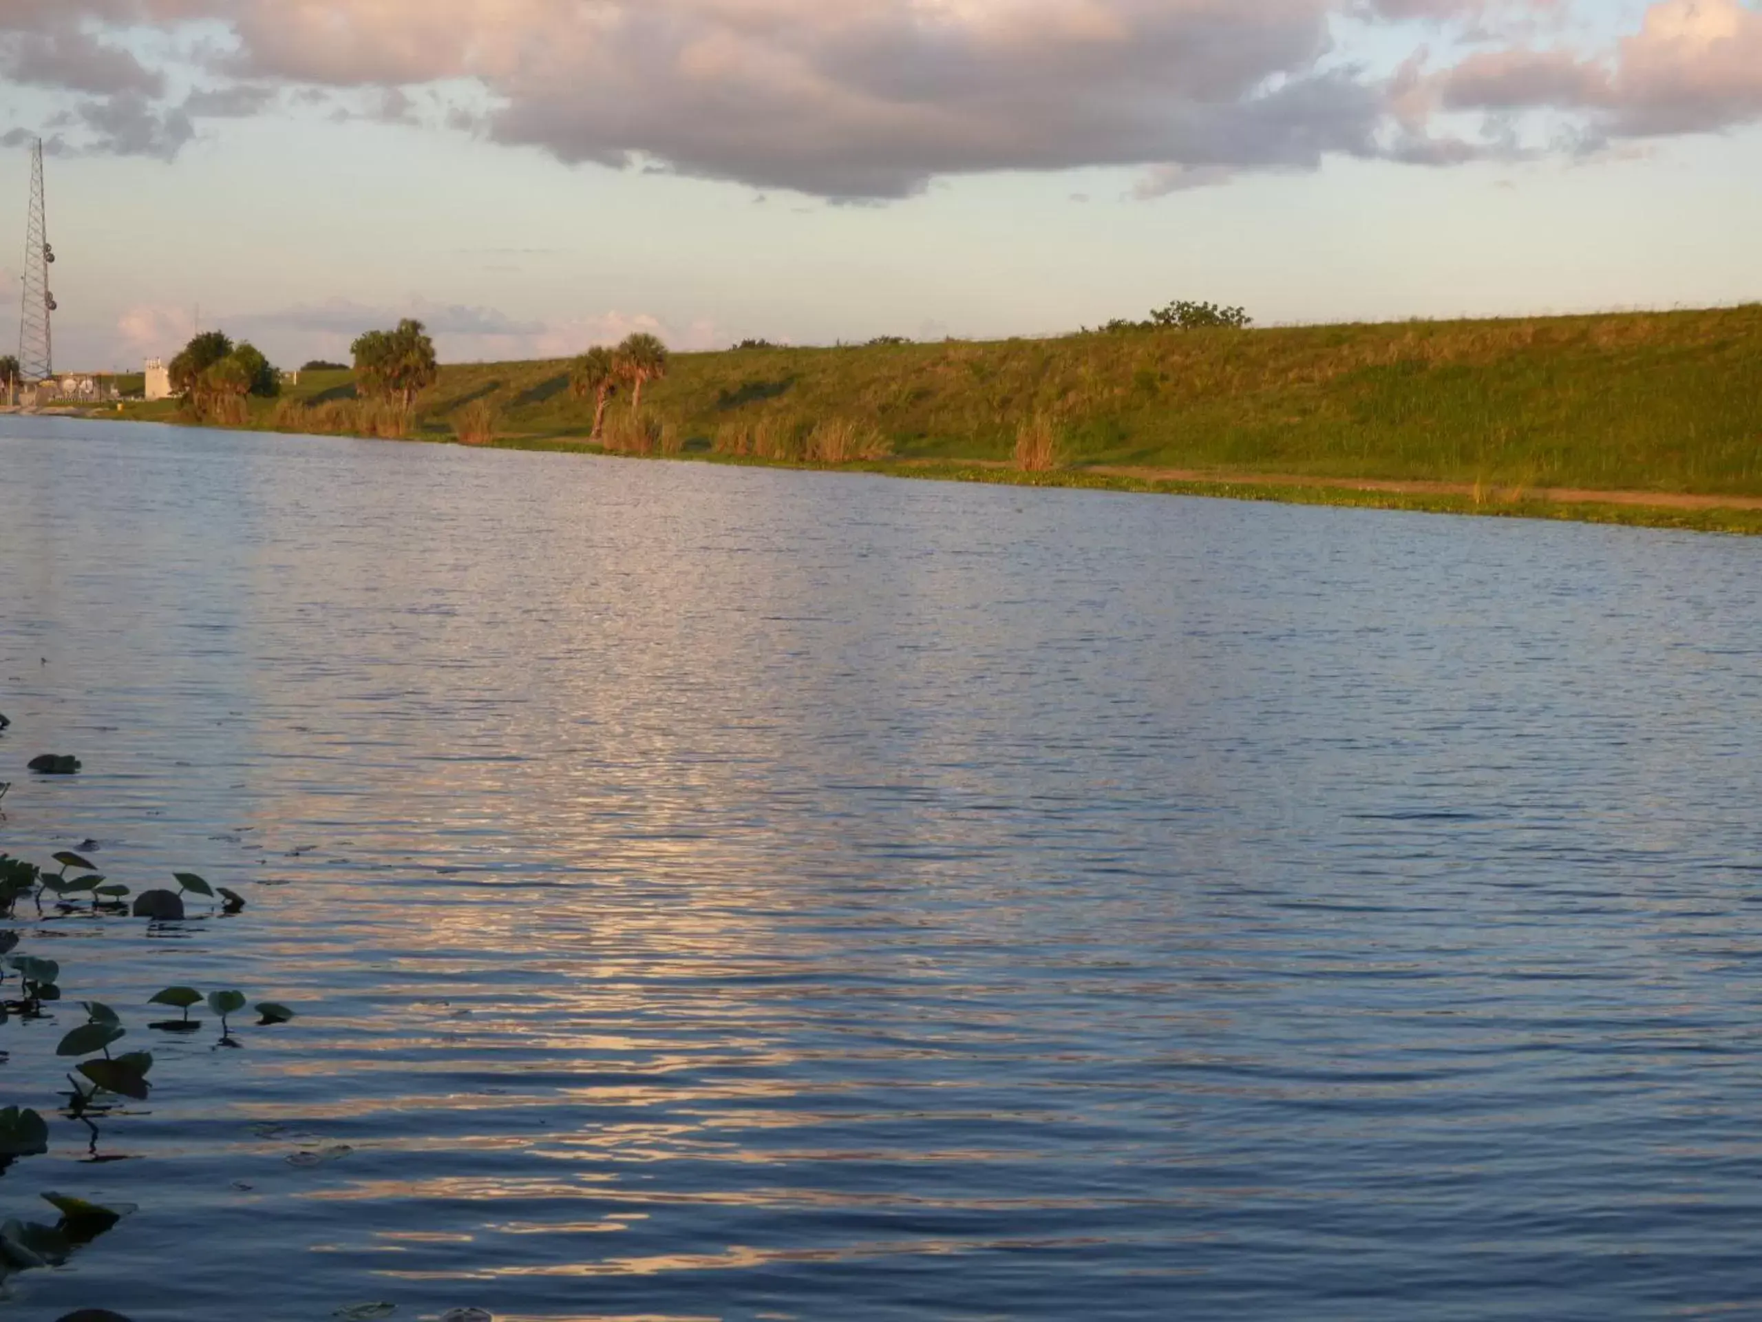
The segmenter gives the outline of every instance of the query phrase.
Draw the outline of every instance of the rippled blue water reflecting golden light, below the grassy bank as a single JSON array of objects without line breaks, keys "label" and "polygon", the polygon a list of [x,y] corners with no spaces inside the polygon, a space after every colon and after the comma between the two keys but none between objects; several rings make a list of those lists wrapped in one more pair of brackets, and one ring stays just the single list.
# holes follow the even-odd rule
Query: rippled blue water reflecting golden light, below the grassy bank
[{"label": "rippled blue water reflecting golden light, below the grassy bank", "polygon": [[[159,1065],[130,1160],[56,1118],[0,1179],[139,1204],[4,1308],[1758,1315],[1758,585],[1656,531],[0,420],[0,850],[250,901],[25,924]],[[301,1019],[153,1033],[173,982]],[[79,1017],[0,1028],[0,1102]]]}]

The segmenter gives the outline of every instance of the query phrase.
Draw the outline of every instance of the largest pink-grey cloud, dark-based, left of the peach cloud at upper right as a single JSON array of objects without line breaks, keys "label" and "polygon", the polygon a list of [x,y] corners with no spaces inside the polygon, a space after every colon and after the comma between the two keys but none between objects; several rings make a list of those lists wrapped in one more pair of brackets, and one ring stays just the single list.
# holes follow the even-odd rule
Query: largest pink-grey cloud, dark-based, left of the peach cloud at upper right
[{"label": "largest pink-grey cloud, dark-based, left of the peach cloud at upper right", "polygon": [[[377,93],[384,118],[409,116],[407,88],[467,86],[440,118],[495,143],[832,199],[978,171],[1311,167],[1376,153],[1383,115],[1374,79],[1323,67],[1341,0],[12,2],[19,41],[79,39],[86,60],[95,32],[206,19],[227,33],[206,79]],[[164,78],[102,49],[113,67],[62,85]],[[180,130],[102,150],[164,155]]]}]

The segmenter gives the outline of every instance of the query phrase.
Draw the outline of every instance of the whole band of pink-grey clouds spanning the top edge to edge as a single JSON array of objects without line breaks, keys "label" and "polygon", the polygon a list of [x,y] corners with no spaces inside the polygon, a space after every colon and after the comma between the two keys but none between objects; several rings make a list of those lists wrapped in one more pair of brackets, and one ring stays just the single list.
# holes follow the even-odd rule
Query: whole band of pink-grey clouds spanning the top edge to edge
[{"label": "whole band of pink-grey clouds spanning the top edge to edge", "polygon": [[[1743,0],[1653,0],[1609,49],[1582,46],[1575,0],[0,4],[0,78],[74,99],[60,150],[166,159],[194,120],[315,99],[344,120],[833,201],[1096,166],[1149,171],[1151,197],[1330,155],[1542,150],[1515,146],[1514,116],[1572,116],[1556,137],[1573,152],[1762,116],[1762,14]],[[1436,72],[1420,55],[1378,72],[1427,32]],[[1464,113],[1487,116],[1478,137]]]}]

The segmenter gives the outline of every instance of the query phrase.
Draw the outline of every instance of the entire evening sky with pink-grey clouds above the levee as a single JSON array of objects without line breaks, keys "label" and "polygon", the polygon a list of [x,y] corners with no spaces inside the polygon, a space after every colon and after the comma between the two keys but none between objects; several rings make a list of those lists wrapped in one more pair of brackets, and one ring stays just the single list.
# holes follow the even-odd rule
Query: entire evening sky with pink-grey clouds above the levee
[{"label": "entire evening sky with pink-grey clouds above the levee", "polygon": [[62,370],[1762,300],[1757,0],[0,0],[0,351],[39,136]]}]

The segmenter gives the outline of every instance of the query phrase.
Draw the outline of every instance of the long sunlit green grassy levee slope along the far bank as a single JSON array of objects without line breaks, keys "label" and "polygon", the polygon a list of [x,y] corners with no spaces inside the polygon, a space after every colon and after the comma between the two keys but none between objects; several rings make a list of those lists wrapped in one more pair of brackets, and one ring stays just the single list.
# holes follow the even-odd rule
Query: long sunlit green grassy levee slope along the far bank
[{"label": "long sunlit green grassy levee slope along the far bank", "polygon": [[[351,425],[351,397],[349,374],[310,374],[285,400],[257,402],[252,425],[374,430]],[[839,423],[892,448],[892,462],[860,467],[1010,479],[1001,469],[1024,427],[1054,420],[1055,471],[1029,474],[1043,485],[1226,485],[1216,494],[1484,513],[1536,513],[1526,494],[1542,488],[1762,497],[1762,305],[680,354],[643,402],[687,457],[749,455],[728,437],[761,425],[800,435]],[[455,439],[492,409],[495,444],[569,448],[592,423],[567,363],[456,365],[411,435]],[[1295,495],[1339,479],[1477,494]]]}]

